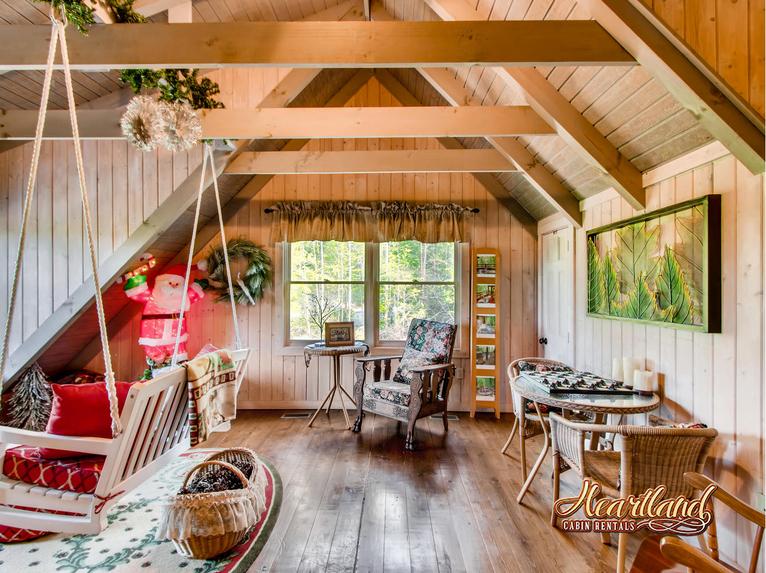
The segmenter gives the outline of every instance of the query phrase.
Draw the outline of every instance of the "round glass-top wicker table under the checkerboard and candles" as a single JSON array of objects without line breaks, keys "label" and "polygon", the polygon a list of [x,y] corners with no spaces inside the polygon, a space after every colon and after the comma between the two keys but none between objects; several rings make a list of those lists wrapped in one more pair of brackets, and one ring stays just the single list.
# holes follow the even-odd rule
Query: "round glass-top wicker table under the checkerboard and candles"
[{"label": "round glass-top wicker table under the checkerboard and candles", "polygon": [[[608,414],[626,415],[643,414],[656,410],[660,405],[660,397],[657,394],[642,396],[640,394],[549,394],[543,390],[537,383],[524,377],[522,372],[520,376],[511,380],[511,389],[521,398],[521,408],[519,414],[519,429],[524,427],[526,422],[525,411],[527,402],[531,402],[535,412],[543,419],[540,412],[540,404],[545,404],[551,408],[560,408],[563,412],[591,412],[596,414],[597,423],[603,423]],[[521,503],[524,496],[532,484],[532,480],[540,470],[540,466],[545,461],[550,449],[550,436],[548,435],[548,425],[542,424],[544,440],[543,449],[537,457],[532,470],[527,475],[524,485],[516,497],[516,501]],[[591,447],[598,443],[597,436],[593,436]]]}]

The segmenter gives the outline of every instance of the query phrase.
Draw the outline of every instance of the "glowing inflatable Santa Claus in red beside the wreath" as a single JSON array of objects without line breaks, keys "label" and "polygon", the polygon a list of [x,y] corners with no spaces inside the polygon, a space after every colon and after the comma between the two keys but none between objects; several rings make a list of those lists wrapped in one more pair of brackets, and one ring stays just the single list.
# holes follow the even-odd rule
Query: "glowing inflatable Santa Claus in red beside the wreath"
[{"label": "glowing inflatable Santa Claus in red beside the wreath", "polygon": [[[205,270],[204,265],[195,265],[192,269]],[[138,274],[125,283],[125,294],[131,300],[144,303],[141,314],[141,337],[138,344],[144,349],[147,363],[152,369],[168,364],[173,357],[176,335],[180,323],[181,303],[186,267],[173,265],[154,279],[150,289],[146,275]],[[186,291],[184,323],[181,325],[181,339],[178,346],[178,359],[186,360],[186,341],[189,339],[187,314],[195,302],[205,296],[198,281],[189,285]]]}]

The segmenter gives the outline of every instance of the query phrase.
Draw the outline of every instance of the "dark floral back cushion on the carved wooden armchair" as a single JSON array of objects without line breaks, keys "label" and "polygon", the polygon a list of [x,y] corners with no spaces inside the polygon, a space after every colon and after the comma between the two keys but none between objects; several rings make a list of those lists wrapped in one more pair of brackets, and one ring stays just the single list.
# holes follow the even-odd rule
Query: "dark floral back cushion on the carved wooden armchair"
[{"label": "dark floral back cushion on the carved wooden armchair", "polygon": [[409,384],[413,368],[449,362],[456,332],[454,324],[413,318],[394,382]]}]

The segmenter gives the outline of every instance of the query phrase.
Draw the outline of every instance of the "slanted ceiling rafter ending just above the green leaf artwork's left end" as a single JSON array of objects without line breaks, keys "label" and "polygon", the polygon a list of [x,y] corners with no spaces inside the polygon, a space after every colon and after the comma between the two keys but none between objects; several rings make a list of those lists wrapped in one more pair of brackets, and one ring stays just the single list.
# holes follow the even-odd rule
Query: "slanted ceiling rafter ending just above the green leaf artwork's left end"
[{"label": "slanted ceiling rafter ending just above the green leaf artwork's left end", "polygon": [[[425,0],[444,20],[482,21],[465,0]],[[642,209],[646,193],[641,172],[623,156],[540,72],[532,68],[497,66],[500,77],[518,84],[527,101],[556,132],[589,163],[611,179],[615,189],[634,208]]]}]

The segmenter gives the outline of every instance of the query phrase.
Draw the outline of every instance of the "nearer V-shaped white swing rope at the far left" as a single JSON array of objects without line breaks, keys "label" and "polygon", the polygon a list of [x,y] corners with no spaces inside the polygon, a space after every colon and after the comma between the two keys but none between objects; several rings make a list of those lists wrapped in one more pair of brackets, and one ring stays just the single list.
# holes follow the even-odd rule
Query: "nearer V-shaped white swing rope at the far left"
[{"label": "nearer V-shaped white swing rope at the far left", "polygon": [[2,354],[0,354],[0,379],[4,379],[5,367],[8,361],[8,349],[10,345],[11,326],[16,309],[16,300],[18,294],[19,277],[21,275],[21,264],[24,257],[24,244],[27,234],[27,223],[32,208],[32,199],[34,197],[35,186],[37,183],[37,170],[40,160],[40,149],[42,147],[43,128],[48,111],[48,99],[50,97],[51,82],[53,77],[53,67],[56,55],[56,45],[61,41],[61,61],[64,68],[64,82],[67,91],[67,103],[69,107],[69,120],[72,124],[72,139],[75,151],[75,160],[77,163],[77,174],[80,184],[80,198],[82,199],[83,215],[85,219],[85,230],[88,237],[88,250],[90,251],[91,270],[93,273],[93,285],[95,288],[96,313],[98,315],[98,328],[101,338],[101,348],[104,356],[104,375],[106,382],[106,393],[109,399],[109,413],[112,419],[112,436],[117,437],[122,432],[120,423],[120,414],[117,402],[117,388],[112,370],[112,358],[109,351],[109,339],[106,330],[106,316],[104,314],[104,301],[101,297],[101,281],[98,275],[98,256],[96,245],[93,238],[93,229],[91,224],[90,202],[88,201],[88,192],[85,181],[85,167],[82,159],[82,147],[80,143],[80,130],[77,124],[77,112],[75,109],[74,90],[72,87],[72,72],[69,65],[69,50],[66,43],[66,21],[59,21],[56,18],[55,11],[51,8],[51,41],[48,48],[48,60],[45,66],[45,77],[43,80],[43,92],[40,101],[40,110],[37,115],[37,128],[35,130],[34,146],[32,148],[32,165],[30,166],[29,179],[27,181],[26,196],[24,198],[24,209],[21,218],[21,229],[19,232],[18,248],[16,250],[16,263],[13,268],[13,283],[8,299],[8,315],[5,321],[5,331],[3,334]]}]

